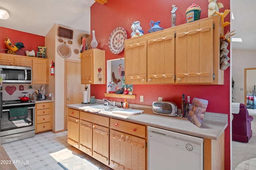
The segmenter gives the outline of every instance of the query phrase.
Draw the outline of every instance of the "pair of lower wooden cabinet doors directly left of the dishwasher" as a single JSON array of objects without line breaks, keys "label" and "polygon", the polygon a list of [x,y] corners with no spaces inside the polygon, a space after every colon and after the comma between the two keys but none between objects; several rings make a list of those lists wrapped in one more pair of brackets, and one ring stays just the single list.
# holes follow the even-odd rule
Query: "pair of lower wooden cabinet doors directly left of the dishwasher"
[{"label": "pair of lower wooden cabinet doors directly left of the dishwasher", "polygon": [[145,170],[145,139],[110,130],[110,167],[114,170]]}]

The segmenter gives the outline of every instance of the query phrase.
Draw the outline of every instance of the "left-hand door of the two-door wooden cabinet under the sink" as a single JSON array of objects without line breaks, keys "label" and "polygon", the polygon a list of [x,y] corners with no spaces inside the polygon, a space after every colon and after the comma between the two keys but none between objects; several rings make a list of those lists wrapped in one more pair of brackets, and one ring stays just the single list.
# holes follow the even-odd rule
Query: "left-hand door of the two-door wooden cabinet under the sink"
[{"label": "left-hand door of the two-door wooden cabinet under the sink", "polygon": [[80,119],[79,149],[92,156],[92,123]]}]

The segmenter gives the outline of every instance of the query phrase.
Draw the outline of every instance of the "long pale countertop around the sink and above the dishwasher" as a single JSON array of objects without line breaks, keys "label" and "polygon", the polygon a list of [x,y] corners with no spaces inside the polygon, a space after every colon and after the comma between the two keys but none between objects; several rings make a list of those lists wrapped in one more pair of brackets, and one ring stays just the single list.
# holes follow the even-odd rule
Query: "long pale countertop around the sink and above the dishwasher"
[{"label": "long pale countertop around the sink and above the dishwasher", "polygon": [[[98,104],[71,104],[67,105],[67,107],[78,109],[79,107],[92,105]],[[83,109],[78,110],[84,111]],[[106,116],[100,113],[94,114]],[[127,117],[126,119],[114,116],[107,117],[214,140],[217,140],[228,126],[228,114],[212,112],[205,113],[201,127],[197,127],[184,117],[170,117],[164,115],[156,115],[153,113],[143,113],[132,117]]]}]

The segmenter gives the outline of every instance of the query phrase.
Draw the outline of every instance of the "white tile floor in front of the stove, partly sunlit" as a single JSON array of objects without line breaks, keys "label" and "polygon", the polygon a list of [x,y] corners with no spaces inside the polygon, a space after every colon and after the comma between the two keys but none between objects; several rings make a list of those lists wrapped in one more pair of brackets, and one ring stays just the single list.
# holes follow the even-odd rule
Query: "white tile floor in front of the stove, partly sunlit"
[{"label": "white tile floor in front of the stove, partly sunlit", "polygon": [[46,132],[2,144],[18,170],[63,170],[57,162],[82,152],[67,143],[67,131]]}]

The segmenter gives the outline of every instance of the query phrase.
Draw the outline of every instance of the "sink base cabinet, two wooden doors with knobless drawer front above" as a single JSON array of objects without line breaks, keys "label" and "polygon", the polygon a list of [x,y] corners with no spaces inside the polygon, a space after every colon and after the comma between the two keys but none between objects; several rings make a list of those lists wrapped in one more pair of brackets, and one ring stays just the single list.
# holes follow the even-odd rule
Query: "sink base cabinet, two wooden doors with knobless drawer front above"
[{"label": "sink base cabinet, two wooden doors with knobless drawer front above", "polygon": [[[109,118],[80,111],[80,127],[86,133],[80,133],[80,150],[86,150],[96,160],[109,164]],[[91,124],[90,124],[91,123]],[[90,126],[92,129],[90,129]],[[86,129],[87,128],[87,129]],[[92,135],[91,135],[92,134]],[[92,139],[92,141],[90,141]],[[92,143],[92,146],[91,146]],[[90,151],[92,150],[92,151]],[[91,153],[92,152],[92,153]]]}]

